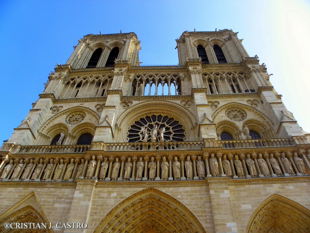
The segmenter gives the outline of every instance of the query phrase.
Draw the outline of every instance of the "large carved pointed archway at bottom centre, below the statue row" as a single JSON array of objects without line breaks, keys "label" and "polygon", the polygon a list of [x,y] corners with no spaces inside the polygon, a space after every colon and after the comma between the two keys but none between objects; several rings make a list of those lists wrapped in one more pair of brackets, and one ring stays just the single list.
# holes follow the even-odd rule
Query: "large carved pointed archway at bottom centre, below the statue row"
[{"label": "large carved pointed archway at bottom centre, below the statue row", "polygon": [[100,221],[99,232],[202,232],[197,217],[172,196],[154,189],[141,190],[117,204]]}]

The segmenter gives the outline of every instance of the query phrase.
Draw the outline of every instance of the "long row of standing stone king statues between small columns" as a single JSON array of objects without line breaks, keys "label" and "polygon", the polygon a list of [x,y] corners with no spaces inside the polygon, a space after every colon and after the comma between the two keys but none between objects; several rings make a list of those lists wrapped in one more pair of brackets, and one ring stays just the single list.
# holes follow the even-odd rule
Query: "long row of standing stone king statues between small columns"
[{"label": "long row of standing stone king statues between small columns", "polygon": [[[50,159],[23,160],[2,158],[0,179],[3,181],[73,181],[74,179],[98,180],[198,180],[211,176],[230,176],[232,178],[251,178],[264,176],[308,175],[305,163],[310,170],[310,150],[308,159],[295,152],[258,155],[222,155],[221,153],[184,157],[102,158],[92,159]],[[228,159],[227,159],[228,157]],[[258,157],[258,158],[257,158]],[[264,158],[263,158],[264,157]],[[276,157],[276,158],[274,158]],[[293,158],[292,158],[293,157]],[[197,160],[196,160],[197,158]],[[240,158],[240,160],[239,160]],[[108,162],[109,159],[109,162]],[[156,159],[156,162],[155,162]],[[234,162],[233,162],[234,159]],[[138,161],[137,161],[138,160]],[[144,160],[144,161],[142,161]],[[209,160],[209,161],[208,161]],[[9,161],[9,162],[8,162]],[[132,161],[132,162],[131,162]],[[242,162],[241,162],[242,161]],[[6,165],[6,162],[8,164]],[[210,169],[209,169],[210,163]],[[134,169],[133,169],[134,168]]]}]

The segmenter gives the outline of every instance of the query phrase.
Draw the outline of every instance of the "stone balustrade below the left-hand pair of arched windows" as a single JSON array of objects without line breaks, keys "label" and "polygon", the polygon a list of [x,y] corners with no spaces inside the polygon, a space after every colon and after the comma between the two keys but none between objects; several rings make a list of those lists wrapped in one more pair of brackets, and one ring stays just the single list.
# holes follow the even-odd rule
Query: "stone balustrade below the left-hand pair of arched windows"
[{"label": "stone balustrade below the left-hand pair of arched windows", "polygon": [[90,149],[91,145],[20,146],[15,153],[82,153]]}]

